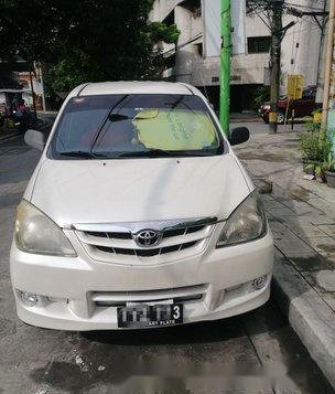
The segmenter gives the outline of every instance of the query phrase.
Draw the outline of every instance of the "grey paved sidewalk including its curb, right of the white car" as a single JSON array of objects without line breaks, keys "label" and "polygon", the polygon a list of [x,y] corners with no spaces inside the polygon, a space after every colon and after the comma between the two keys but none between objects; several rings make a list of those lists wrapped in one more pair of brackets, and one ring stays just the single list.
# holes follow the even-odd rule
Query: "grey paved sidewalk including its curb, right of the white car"
[{"label": "grey paved sidewalk including its curb, right of the white car", "polygon": [[335,388],[335,189],[303,180],[298,135],[253,135],[236,153],[263,201],[275,242],[273,295]]}]

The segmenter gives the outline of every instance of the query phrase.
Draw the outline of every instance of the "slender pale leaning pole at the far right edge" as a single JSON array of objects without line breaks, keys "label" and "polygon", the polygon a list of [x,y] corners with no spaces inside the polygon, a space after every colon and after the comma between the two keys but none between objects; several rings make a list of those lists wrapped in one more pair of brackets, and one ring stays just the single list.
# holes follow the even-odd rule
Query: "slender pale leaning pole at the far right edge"
[{"label": "slender pale leaning pole at the far right edge", "polygon": [[334,58],[334,28],[335,28],[335,0],[331,1],[328,34],[327,34],[327,50],[326,50],[326,65],[325,65],[325,78],[323,88],[323,106],[322,106],[322,130],[326,132],[329,108],[329,95],[332,83],[332,70]]}]

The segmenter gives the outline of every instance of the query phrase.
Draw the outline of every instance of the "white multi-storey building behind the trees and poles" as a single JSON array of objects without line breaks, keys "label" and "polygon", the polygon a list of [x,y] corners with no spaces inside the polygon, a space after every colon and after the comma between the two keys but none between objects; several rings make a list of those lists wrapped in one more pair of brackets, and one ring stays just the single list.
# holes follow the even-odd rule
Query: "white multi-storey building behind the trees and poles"
[{"label": "white multi-storey building behind the trees and poles", "polygon": [[[294,0],[294,8],[303,11],[324,10],[326,0]],[[248,13],[248,0],[231,0],[241,13],[235,17],[235,54],[231,68],[231,111],[251,109],[255,90],[267,83],[270,61],[270,30],[267,18],[259,10]],[[217,106],[219,97],[220,0],[156,0],[152,21],[175,23],[181,30],[176,49],[164,45],[170,68],[164,77],[186,82],[206,90]],[[322,25],[323,18],[317,18]],[[282,78],[284,93],[287,75],[303,74],[305,85],[317,85],[322,29],[313,17],[285,14],[284,26],[294,21],[282,41]]]}]

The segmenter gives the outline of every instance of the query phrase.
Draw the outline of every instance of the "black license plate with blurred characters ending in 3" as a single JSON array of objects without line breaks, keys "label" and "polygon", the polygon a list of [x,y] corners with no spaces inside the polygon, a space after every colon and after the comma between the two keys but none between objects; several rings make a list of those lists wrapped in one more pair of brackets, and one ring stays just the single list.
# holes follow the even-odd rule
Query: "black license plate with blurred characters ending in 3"
[{"label": "black license plate with blurred characters ending in 3", "polygon": [[118,308],[119,328],[145,328],[180,324],[183,305],[137,305]]}]

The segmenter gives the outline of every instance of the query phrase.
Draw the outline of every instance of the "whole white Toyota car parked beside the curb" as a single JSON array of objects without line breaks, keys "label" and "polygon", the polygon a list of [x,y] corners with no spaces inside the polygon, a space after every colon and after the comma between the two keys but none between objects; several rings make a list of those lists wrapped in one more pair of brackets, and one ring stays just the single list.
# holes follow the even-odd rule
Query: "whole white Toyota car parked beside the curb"
[{"label": "whole white Toyota car parked beside the curb", "polygon": [[[216,320],[270,296],[258,192],[201,92],[85,84],[66,98],[18,207],[11,280],[24,322],[61,330]],[[229,143],[230,142],[230,143]]]}]

